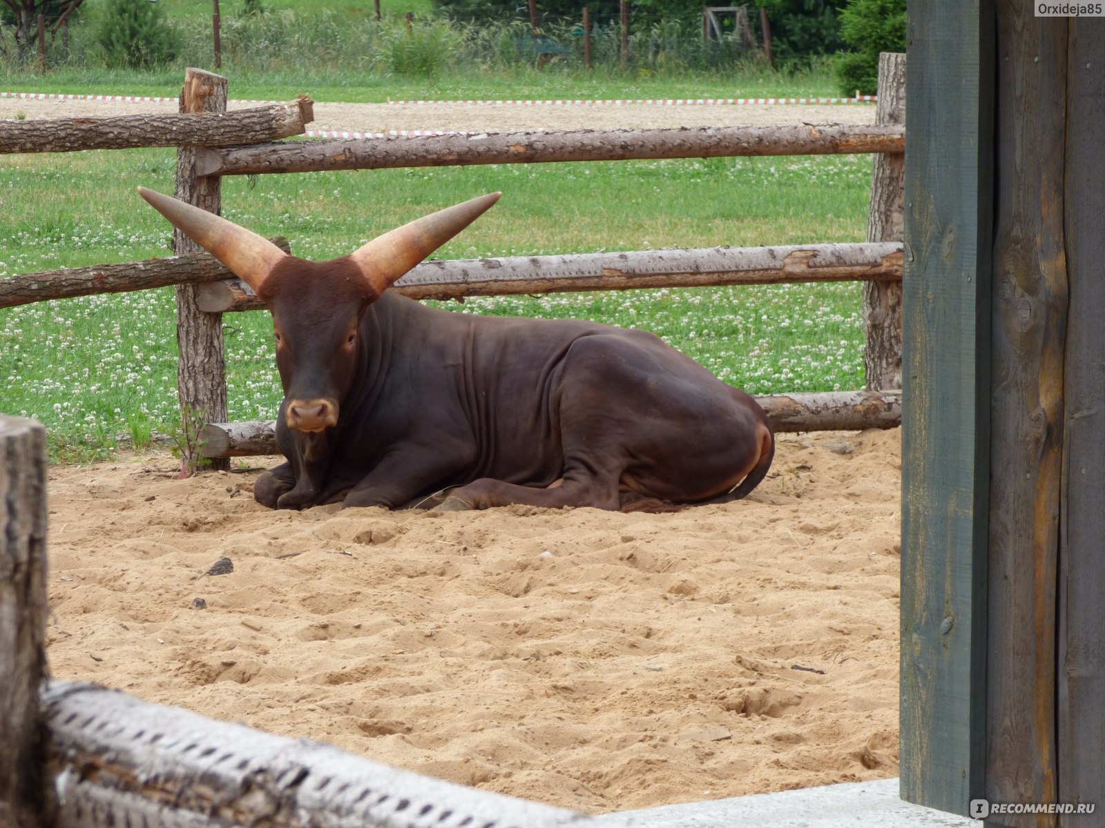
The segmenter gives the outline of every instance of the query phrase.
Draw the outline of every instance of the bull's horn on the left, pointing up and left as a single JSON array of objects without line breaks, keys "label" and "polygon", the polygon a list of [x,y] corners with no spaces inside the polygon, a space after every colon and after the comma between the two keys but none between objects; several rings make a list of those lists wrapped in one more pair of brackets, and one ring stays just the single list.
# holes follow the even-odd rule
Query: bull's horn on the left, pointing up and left
[{"label": "bull's horn on the left, pointing up and left", "polygon": [[229,267],[235,276],[261,293],[261,285],[287,254],[264,236],[191,204],[138,188],[155,210],[185,235]]}]

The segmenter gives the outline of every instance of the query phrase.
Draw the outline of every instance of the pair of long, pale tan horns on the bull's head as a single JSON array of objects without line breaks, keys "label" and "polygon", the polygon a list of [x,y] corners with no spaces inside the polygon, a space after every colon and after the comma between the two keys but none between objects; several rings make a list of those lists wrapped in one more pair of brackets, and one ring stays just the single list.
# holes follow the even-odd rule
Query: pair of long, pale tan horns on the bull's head
[{"label": "pair of long, pale tan horns on the bull's head", "polygon": [[[185,235],[222,262],[257,296],[266,297],[265,283],[285,259],[294,258],[250,230],[139,187],[138,192]],[[502,193],[488,193],[417,219],[389,231],[344,256],[356,267],[366,293],[382,294],[389,285],[433,253],[492,206]],[[282,268],[283,269],[283,268]]]}]

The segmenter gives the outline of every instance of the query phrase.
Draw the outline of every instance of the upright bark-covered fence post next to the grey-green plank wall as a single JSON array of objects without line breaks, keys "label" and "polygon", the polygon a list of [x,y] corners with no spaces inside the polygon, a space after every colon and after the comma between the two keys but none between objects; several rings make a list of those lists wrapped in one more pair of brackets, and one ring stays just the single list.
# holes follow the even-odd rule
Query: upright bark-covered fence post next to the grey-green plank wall
[{"label": "upright bark-covered fence post next to the grey-green plank wall", "polygon": [[[905,55],[883,52],[878,56],[877,124],[905,125]],[[905,156],[875,156],[871,177],[869,242],[901,242],[905,188]],[[866,343],[863,364],[867,389],[902,388],[902,285],[865,283],[863,323]]]}]

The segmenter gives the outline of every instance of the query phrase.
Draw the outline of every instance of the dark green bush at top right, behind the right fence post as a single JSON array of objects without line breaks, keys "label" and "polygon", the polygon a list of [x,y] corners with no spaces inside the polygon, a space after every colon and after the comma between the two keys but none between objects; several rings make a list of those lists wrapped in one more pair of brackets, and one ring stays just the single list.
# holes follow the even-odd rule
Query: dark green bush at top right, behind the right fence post
[{"label": "dark green bush at top right, behind the right fence post", "polygon": [[840,13],[840,32],[853,51],[835,62],[845,95],[878,88],[878,53],[905,52],[905,0],[848,0]]}]

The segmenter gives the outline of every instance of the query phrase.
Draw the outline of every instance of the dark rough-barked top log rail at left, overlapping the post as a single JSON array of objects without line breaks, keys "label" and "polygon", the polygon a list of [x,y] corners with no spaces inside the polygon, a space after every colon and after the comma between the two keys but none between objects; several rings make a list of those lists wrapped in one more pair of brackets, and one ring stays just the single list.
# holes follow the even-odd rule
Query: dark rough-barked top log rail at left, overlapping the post
[{"label": "dark rough-barked top log rail at left, overlapping the post", "polygon": [[119,115],[110,118],[0,120],[0,153],[76,152],[133,147],[229,147],[303,135],[314,120],[314,102],[232,113]]}]

